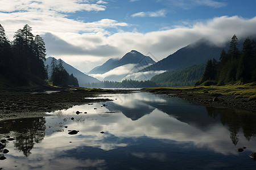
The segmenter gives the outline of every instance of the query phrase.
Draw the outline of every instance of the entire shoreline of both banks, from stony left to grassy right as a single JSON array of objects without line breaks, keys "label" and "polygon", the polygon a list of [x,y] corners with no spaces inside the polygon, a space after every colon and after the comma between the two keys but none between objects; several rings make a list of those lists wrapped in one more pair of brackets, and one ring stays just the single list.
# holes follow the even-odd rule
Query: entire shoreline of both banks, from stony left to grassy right
[{"label": "entire shoreline of both banks, from stony left to grassy right", "polygon": [[[46,112],[68,109],[74,105],[110,101],[110,99],[85,99],[88,97],[96,97],[97,95],[104,94],[127,94],[131,91],[134,90],[77,88],[60,89],[60,91],[52,93],[0,90],[0,121],[51,116],[50,114],[46,114]],[[160,87],[143,88],[135,91],[166,94],[169,97],[175,96],[184,100],[195,101],[194,104],[196,105],[241,109],[256,113],[255,98],[249,100],[250,98],[248,97],[237,97],[238,95],[216,91],[213,87]]]}]

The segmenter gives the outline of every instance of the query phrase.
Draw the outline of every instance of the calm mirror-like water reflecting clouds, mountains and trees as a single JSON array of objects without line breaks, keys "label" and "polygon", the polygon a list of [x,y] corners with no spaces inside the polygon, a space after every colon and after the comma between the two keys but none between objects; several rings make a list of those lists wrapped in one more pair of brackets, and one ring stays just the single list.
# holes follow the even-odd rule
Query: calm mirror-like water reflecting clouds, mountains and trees
[{"label": "calm mirror-like water reflecting clouds, mountains and trees", "polygon": [[113,101],[0,122],[1,139],[15,139],[0,169],[255,168],[253,114],[143,92],[104,97]]}]

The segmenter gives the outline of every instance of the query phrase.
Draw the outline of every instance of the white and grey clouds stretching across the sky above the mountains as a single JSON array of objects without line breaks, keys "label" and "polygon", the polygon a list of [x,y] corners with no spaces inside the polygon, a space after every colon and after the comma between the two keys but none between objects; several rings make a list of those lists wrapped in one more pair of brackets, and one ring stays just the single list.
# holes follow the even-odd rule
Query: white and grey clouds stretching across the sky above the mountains
[{"label": "white and grey clouds stretching across the sky above the mountains", "polygon": [[[256,34],[256,17],[244,19],[239,16],[221,16],[186,27],[177,25],[148,33],[120,31],[120,27],[129,27],[129,24],[113,19],[105,18],[95,22],[86,22],[86,20],[69,17],[69,12],[97,12],[106,8],[104,5],[91,2],[99,1],[2,0],[0,1],[0,23],[10,40],[13,39],[14,32],[22,28],[24,24],[32,27],[34,35],[51,33],[53,39],[59,37],[62,45],[54,44],[52,39],[45,39],[46,45],[48,44],[47,56],[65,58],[65,62],[72,63],[82,72],[101,65],[109,58],[120,58],[131,49],[144,54],[151,52],[156,59],[160,60],[203,37],[220,45],[230,41],[234,33],[238,39]],[[199,2],[201,1],[196,1],[197,4]],[[214,2],[216,1],[204,3],[208,6],[212,3],[212,6],[217,7]],[[202,3],[200,5],[203,5]],[[144,12],[140,15],[164,16],[164,12],[160,10]],[[108,28],[114,28],[116,31],[109,32]],[[76,58],[76,61],[73,58]],[[85,66],[81,63],[90,63],[90,65]]]}]

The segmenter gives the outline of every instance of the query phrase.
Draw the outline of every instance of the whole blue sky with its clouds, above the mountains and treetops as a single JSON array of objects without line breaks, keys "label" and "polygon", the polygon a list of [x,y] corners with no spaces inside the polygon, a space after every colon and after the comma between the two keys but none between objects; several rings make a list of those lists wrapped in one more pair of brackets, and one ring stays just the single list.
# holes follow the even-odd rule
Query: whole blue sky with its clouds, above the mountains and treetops
[{"label": "whole blue sky with its clouds, above the mountains and treetops", "polygon": [[159,61],[204,37],[222,45],[256,35],[255,8],[256,0],[1,0],[0,23],[10,40],[30,25],[47,56],[87,72],[132,49]]}]

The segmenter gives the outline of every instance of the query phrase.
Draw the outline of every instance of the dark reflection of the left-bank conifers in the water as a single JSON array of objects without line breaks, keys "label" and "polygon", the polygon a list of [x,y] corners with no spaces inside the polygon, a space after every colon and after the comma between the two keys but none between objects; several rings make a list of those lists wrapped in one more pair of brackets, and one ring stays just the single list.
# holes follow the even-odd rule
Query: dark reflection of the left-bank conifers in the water
[{"label": "dark reflection of the left-bank conifers in the water", "polygon": [[5,131],[12,131],[14,136],[14,146],[23,151],[25,156],[31,154],[31,150],[35,143],[40,143],[44,139],[46,120],[43,117],[26,118],[21,120],[5,122]]}]

